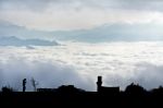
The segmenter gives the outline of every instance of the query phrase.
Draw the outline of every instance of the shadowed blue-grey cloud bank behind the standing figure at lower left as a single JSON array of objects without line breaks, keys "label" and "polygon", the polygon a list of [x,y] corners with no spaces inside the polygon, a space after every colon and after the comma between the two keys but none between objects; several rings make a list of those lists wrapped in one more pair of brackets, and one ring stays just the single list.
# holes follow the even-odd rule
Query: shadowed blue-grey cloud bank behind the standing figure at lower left
[{"label": "shadowed blue-grey cloud bank behind the standing figure at lower left", "polygon": [[39,85],[37,87],[58,87],[62,84],[91,89],[79,73],[73,68],[61,65],[50,60],[28,61],[27,58],[10,58],[7,63],[0,64],[0,86],[11,86],[22,91],[22,81],[27,79],[27,91],[33,91],[30,80],[34,77]]}]

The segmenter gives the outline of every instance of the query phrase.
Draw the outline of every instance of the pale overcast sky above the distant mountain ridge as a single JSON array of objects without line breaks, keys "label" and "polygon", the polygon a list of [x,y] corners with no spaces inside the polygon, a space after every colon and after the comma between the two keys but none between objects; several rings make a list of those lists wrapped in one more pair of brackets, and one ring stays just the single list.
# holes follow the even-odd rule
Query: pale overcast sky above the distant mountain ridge
[{"label": "pale overcast sky above the distant mountain ridge", "polygon": [[163,24],[162,5],[163,0],[0,0],[0,21],[41,31]]}]

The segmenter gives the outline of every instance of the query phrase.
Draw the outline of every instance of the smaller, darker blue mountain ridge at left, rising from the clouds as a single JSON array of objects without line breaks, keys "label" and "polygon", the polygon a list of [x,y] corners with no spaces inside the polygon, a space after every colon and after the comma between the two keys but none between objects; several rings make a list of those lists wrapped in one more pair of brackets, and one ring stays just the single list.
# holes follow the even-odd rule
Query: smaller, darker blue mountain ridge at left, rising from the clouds
[{"label": "smaller, darker blue mountain ridge at left, rising from the clouds", "polygon": [[15,36],[0,37],[0,46],[57,46],[57,41],[43,39],[21,39]]}]

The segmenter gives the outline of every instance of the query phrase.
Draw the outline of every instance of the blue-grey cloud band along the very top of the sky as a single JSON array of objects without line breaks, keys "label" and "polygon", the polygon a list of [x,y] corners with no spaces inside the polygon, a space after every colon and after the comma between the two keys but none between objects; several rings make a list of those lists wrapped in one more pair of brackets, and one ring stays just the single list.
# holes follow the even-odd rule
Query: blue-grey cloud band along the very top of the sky
[{"label": "blue-grey cloud band along the very top of the sky", "polygon": [[1,0],[0,5],[3,9],[16,8],[41,11],[49,5],[58,8],[100,8],[100,9],[129,9],[129,10],[151,10],[163,11],[162,0]]}]

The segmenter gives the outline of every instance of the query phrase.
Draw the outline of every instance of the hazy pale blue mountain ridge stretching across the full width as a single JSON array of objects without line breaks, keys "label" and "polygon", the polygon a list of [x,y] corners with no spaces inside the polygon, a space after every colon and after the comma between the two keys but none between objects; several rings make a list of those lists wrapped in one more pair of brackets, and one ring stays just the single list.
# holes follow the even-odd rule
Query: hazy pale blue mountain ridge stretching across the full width
[{"label": "hazy pale blue mountain ridge stretching across the full width", "polygon": [[163,25],[161,24],[104,24],[90,29],[72,31],[38,31],[25,26],[0,22],[0,36],[16,36],[20,38],[39,38],[58,40],[75,40],[86,43],[103,41],[147,41],[163,40]]}]

